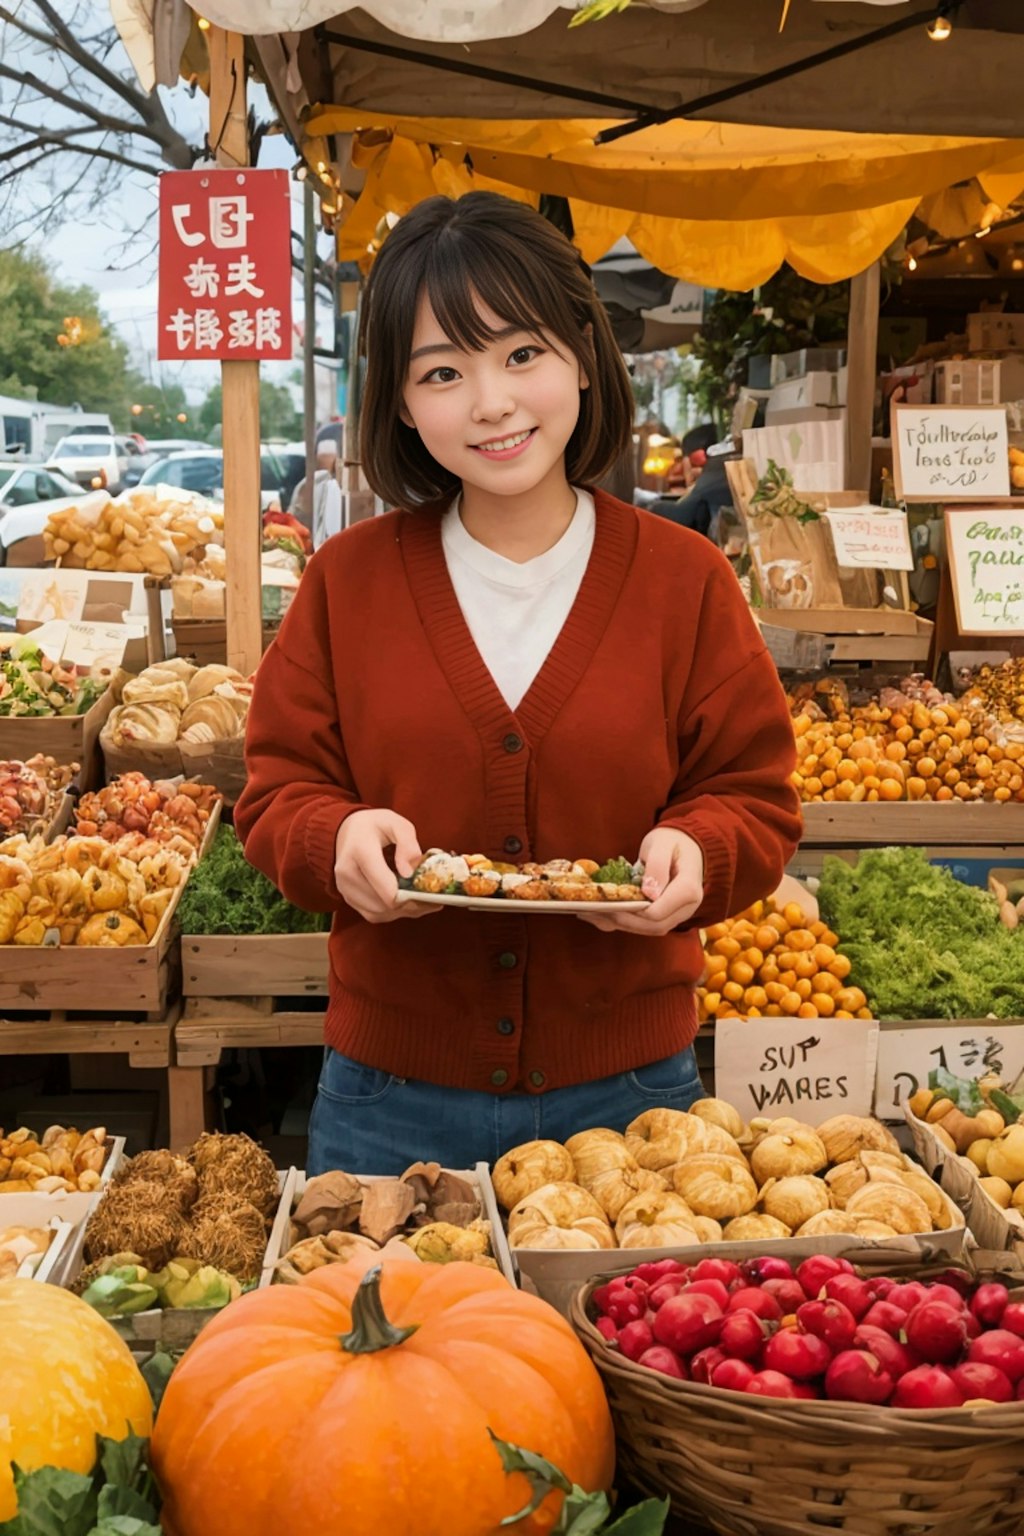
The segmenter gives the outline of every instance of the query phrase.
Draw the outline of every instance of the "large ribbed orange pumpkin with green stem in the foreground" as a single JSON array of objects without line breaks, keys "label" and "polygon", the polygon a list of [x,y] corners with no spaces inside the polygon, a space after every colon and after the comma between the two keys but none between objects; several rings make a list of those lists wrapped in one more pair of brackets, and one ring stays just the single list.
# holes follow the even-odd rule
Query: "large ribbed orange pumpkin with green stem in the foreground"
[{"label": "large ribbed orange pumpkin with green stem in the foreground", "polygon": [[359,1255],[243,1296],[186,1352],[152,1439],[164,1531],[497,1536],[530,1485],[488,1428],[611,1484],[600,1378],[557,1312],[474,1264]]}]

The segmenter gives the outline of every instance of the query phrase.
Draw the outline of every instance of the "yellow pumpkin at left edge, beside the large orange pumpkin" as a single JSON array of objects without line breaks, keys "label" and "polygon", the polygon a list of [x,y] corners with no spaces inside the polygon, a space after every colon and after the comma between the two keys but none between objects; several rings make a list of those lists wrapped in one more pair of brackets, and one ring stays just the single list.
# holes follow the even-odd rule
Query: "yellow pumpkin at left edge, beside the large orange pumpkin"
[{"label": "yellow pumpkin at left edge, beside the large orange pumpkin", "polygon": [[127,1344],[92,1307],[37,1279],[0,1279],[0,1522],[23,1471],[92,1471],[97,1435],[149,1435],[149,1389]]}]

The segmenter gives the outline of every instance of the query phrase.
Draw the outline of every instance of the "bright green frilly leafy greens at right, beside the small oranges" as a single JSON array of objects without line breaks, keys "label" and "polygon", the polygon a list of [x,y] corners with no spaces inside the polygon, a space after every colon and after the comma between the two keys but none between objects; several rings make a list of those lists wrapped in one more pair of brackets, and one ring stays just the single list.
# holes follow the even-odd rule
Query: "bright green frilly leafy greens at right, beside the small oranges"
[{"label": "bright green frilly leafy greens at right, beside the small oranges", "polygon": [[920,848],[826,859],[818,905],[877,1018],[1024,1017],[1024,931]]}]

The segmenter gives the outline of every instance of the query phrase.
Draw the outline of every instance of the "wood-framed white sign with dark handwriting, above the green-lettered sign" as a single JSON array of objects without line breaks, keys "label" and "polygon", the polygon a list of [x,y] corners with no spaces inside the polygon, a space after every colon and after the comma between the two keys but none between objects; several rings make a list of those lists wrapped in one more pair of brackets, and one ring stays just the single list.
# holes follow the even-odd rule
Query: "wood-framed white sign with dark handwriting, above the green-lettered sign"
[{"label": "wood-framed white sign with dark handwriting, above the green-lettered sign", "polygon": [[892,455],[903,501],[1010,495],[1004,406],[894,406]]}]

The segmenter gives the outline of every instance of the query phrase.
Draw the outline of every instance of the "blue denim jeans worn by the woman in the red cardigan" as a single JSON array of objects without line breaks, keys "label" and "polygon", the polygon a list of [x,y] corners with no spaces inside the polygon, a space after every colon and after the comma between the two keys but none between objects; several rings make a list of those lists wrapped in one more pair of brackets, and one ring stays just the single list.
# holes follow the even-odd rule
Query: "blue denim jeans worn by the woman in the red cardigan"
[{"label": "blue denim jeans worn by the woman in the red cardigan", "polygon": [[505,1095],[395,1077],[327,1046],[306,1170],[398,1177],[421,1158],[473,1167],[540,1137],[565,1141],[591,1126],[625,1130],[645,1109],[688,1109],[703,1092],[692,1046],[617,1077]]}]

